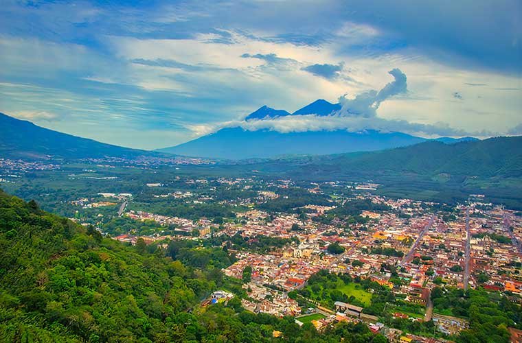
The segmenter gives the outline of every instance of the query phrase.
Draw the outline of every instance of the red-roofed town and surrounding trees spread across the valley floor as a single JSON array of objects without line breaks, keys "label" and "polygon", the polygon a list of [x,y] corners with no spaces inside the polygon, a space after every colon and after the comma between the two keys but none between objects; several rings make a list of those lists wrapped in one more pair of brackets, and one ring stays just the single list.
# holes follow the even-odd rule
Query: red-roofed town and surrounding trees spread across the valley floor
[{"label": "red-roofed town and surrounding trees spread across the valley floor", "polygon": [[317,332],[341,322],[389,342],[449,342],[477,327],[474,299],[489,298],[483,305],[519,334],[510,316],[522,302],[519,209],[480,193],[446,203],[386,196],[374,180],[232,166],[251,175],[212,176],[224,166],[154,161],[4,158],[1,187],[128,246],[217,266],[222,282],[194,309],[234,303]]}]

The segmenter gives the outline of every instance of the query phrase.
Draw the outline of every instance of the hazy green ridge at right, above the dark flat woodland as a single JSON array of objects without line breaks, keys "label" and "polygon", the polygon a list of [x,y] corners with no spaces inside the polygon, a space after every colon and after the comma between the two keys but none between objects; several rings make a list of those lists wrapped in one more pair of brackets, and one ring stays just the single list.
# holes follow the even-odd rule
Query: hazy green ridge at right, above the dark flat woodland
[{"label": "hazy green ridge at right, above the dark flat woodland", "polygon": [[320,171],[375,174],[414,173],[424,175],[522,177],[522,137],[498,137],[484,141],[444,144],[429,141],[367,154],[324,156],[308,164]]}]

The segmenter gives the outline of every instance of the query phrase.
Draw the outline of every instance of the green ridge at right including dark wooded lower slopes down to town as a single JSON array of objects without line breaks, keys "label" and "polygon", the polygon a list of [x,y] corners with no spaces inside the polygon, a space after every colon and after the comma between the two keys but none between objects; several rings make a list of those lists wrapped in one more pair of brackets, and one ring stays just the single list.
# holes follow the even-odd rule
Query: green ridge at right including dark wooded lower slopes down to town
[{"label": "green ridge at right including dark wooded lower slopes down to town", "polygon": [[239,165],[295,180],[381,184],[377,193],[438,202],[484,194],[486,202],[522,210],[522,137],[445,144],[426,141],[379,152],[274,158]]}]

